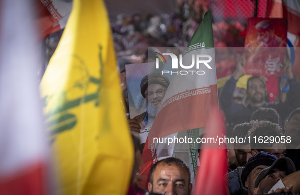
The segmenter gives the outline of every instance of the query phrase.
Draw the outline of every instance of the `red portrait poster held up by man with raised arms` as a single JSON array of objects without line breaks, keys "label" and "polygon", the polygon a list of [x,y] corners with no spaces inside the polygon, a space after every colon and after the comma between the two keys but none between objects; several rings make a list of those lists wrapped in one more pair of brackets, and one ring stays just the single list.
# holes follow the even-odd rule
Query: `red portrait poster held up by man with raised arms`
[{"label": "red portrait poster held up by man with raised arms", "polygon": [[250,18],[245,40],[244,74],[281,77],[286,53],[287,20],[283,18]]}]

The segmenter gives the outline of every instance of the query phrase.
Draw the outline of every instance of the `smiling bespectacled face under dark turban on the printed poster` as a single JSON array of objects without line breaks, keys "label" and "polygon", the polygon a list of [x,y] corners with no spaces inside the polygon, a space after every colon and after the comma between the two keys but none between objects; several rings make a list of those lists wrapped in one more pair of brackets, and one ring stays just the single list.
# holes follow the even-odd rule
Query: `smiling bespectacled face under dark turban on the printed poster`
[{"label": "smiling bespectacled face under dark turban on the printed poster", "polygon": [[149,85],[145,92],[148,106],[151,106],[152,108],[155,109],[159,108],[161,104],[161,100],[165,95],[165,91],[166,88],[160,84]]}]

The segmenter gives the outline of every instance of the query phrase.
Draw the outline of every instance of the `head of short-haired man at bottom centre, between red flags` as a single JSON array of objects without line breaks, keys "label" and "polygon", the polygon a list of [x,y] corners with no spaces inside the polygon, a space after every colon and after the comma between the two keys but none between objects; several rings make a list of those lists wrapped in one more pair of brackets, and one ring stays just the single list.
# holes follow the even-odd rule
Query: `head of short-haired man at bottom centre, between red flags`
[{"label": "head of short-haired man at bottom centre, between red flags", "polygon": [[150,171],[148,190],[157,194],[189,195],[192,190],[190,170],[179,158],[157,161]]}]

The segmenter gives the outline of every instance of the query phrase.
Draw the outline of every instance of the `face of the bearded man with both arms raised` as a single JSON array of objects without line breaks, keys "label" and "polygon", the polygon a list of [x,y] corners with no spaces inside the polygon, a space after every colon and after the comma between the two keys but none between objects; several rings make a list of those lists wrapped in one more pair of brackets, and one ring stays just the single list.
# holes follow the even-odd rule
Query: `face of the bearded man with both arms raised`
[{"label": "face of the bearded man with both arms raised", "polygon": [[264,102],[266,88],[263,82],[258,78],[250,80],[247,87],[247,95],[252,103]]}]

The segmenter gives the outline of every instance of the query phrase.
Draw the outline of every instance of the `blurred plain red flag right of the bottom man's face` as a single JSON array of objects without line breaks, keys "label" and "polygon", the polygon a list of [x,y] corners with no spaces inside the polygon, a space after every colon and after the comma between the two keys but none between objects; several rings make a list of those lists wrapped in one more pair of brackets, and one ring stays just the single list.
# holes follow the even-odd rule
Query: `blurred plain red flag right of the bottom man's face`
[{"label": "blurred plain red flag right of the bottom man's face", "polygon": [[[224,116],[215,108],[209,114],[204,138],[224,137]],[[226,145],[202,145],[194,194],[226,195],[224,175],[227,172]]]}]

